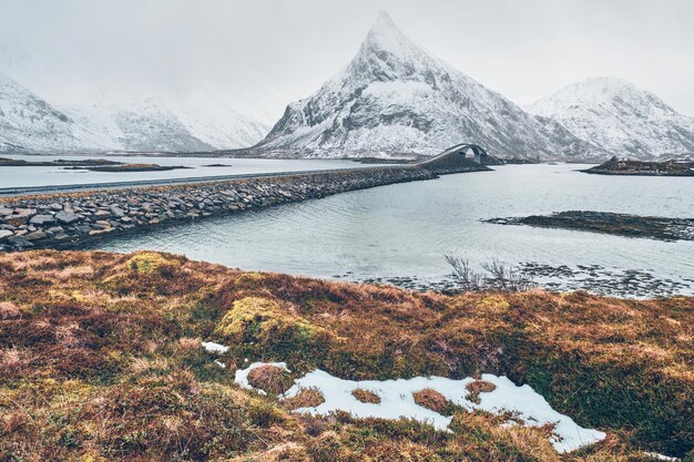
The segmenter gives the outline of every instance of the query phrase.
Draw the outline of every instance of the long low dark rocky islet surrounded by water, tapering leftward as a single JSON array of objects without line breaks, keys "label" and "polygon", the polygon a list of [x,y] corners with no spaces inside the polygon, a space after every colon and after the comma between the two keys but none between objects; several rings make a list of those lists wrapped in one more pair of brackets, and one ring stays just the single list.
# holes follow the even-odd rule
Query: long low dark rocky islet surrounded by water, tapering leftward
[{"label": "long low dark rocky islet surrounded by water, tapering leftward", "polygon": [[570,211],[552,215],[490,218],[484,223],[563,228],[656,240],[694,240],[694,218],[665,218],[610,212]]}]

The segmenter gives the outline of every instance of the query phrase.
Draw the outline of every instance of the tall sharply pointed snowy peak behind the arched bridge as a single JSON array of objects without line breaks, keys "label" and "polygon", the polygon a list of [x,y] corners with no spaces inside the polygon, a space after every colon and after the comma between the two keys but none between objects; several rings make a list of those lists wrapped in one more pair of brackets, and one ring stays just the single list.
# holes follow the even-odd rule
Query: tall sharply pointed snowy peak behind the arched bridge
[{"label": "tall sharply pointed snowy peak behind the arched bridge", "polygon": [[357,55],[287,106],[257,148],[435,154],[461,142],[519,157],[606,156],[415,45],[381,12]]}]

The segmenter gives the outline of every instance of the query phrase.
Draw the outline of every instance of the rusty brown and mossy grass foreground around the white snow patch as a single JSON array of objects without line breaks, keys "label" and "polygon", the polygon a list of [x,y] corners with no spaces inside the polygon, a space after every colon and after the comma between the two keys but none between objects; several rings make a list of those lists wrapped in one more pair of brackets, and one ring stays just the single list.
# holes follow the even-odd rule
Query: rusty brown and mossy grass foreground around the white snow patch
[{"label": "rusty brown and mossy grass foreground around the white snow patch", "polygon": [[[202,340],[231,347],[222,357]],[[2,461],[694,460],[694,298],[416,294],[244,273],[167,254],[0,254]],[[453,413],[310,418],[241,390],[236,365],[348,379],[481,372],[529,383],[605,441]]]}]

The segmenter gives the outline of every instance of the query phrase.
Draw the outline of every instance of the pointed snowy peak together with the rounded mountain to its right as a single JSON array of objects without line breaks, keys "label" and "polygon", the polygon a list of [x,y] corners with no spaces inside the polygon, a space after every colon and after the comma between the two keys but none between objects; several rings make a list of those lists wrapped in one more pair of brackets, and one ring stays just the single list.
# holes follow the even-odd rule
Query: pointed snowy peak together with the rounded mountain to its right
[{"label": "pointed snowy peak together with the rounded mountain to its right", "polygon": [[256,148],[379,156],[473,142],[500,157],[652,158],[694,152],[693,123],[652,93],[605,78],[525,111],[431,57],[381,12],[347,66],[289,104]]}]

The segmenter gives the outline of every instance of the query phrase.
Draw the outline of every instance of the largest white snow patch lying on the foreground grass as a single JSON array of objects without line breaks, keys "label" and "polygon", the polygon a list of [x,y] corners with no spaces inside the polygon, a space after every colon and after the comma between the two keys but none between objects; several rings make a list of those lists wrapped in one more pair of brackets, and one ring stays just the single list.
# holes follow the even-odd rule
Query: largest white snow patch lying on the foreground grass
[{"label": "largest white snow patch lying on the foreground grass", "polygon": [[[236,371],[236,382],[243,388],[252,389],[248,384],[248,372],[263,365],[278,366],[288,371],[284,362],[254,362],[248,368]],[[496,389],[481,392],[479,403],[474,403],[466,398],[468,394],[466,386],[474,381],[472,378],[453,380],[442,377],[415,377],[412,379],[355,381],[343,380],[318,369],[296,379],[294,386],[284,396],[292,398],[298,394],[302,389],[316,389],[325,398],[325,402],[320,405],[297,409],[295,412],[326,415],[341,410],[356,418],[408,418],[431,424],[440,430],[447,429],[452,418],[422,408],[412,398],[414,392],[430,388],[455,404],[470,411],[482,410],[497,414],[512,412],[527,425],[533,427],[553,423],[554,433],[551,443],[558,452],[573,451],[605,438],[605,433],[599,430],[584,429],[570,417],[554,411],[547,400],[528,384],[517,387],[507,377],[497,377],[490,373],[482,374],[482,380],[493,383]],[[356,389],[364,389],[378,394],[380,402],[359,401],[353,396],[353,391]]]}]

